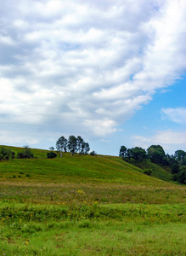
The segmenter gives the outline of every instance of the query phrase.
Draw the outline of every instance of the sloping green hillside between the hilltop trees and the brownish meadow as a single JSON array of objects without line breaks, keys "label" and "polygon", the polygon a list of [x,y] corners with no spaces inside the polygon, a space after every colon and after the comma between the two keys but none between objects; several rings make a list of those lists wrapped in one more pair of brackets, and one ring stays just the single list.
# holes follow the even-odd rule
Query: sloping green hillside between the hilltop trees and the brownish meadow
[{"label": "sloping green hillside between the hilltop trees and the brownish meadow", "polygon": [[[19,153],[22,148],[8,147]],[[131,185],[159,186],[162,182],[143,174],[142,168],[133,166],[115,156],[64,154],[62,158],[46,159],[48,150],[31,149],[37,159],[8,160],[1,162],[1,178],[20,178],[23,180],[43,180],[48,183],[117,183]],[[150,166],[153,176],[171,180],[171,174],[160,166],[144,162],[143,166]],[[140,166],[141,167],[141,166]],[[28,178],[29,177],[29,178]]]}]

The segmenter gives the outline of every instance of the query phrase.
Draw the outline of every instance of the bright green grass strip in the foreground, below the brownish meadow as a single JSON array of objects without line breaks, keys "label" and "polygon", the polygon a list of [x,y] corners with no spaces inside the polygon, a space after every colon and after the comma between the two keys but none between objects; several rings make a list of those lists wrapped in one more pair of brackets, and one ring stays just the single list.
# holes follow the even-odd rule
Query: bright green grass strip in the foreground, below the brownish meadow
[{"label": "bright green grass strip in the foreground, below the brownish meadow", "polygon": [[185,205],[1,203],[7,255],[185,255]]}]

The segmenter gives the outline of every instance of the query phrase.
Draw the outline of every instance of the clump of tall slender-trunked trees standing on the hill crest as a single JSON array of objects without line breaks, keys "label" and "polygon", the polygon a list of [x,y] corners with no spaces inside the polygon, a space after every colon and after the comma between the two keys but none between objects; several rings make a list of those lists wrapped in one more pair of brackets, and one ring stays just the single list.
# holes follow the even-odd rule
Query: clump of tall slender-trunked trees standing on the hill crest
[{"label": "clump of tall slender-trunked trees standing on the hill crest", "polygon": [[68,140],[65,137],[59,137],[56,142],[56,149],[60,152],[60,156],[63,156],[63,152],[69,151],[71,155],[76,153],[88,154],[90,147],[88,143],[85,143],[81,136],[75,137],[71,135]]}]

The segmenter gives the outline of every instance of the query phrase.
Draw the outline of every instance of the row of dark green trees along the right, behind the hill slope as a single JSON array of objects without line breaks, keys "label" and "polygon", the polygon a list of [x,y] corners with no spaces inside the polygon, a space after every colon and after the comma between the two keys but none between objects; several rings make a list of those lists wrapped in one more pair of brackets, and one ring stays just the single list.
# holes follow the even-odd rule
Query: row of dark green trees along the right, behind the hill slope
[{"label": "row of dark green trees along the right, behind the hill slope", "polygon": [[172,179],[186,184],[186,152],[183,150],[177,150],[175,154],[170,155],[165,153],[161,145],[151,145],[147,150],[121,146],[119,156],[126,161],[150,160],[157,165],[169,166],[172,170]]}]

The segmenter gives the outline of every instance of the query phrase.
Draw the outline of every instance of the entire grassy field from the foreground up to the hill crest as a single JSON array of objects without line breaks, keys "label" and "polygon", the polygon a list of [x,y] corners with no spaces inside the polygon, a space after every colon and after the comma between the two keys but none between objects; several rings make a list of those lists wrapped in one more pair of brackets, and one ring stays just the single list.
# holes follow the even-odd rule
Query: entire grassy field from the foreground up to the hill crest
[{"label": "entire grassy field from the foreground up to the hill crest", "polygon": [[0,255],[186,255],[185,185],[119,157],[33,151],[0,162]]}]

